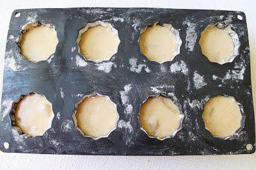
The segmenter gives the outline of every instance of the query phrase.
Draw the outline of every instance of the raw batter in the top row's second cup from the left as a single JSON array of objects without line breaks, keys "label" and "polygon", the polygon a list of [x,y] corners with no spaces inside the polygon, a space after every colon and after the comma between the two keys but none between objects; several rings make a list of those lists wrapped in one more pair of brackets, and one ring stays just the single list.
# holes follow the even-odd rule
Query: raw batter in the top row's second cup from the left
[{"label": "raw batter in the top row's second cup from the left", "polygon": [[120,40],[111,24],[99,22],[96,26],[87,26],[84,31],[79,40],[79,52],[84,58],[97,63],[116,54]]}]

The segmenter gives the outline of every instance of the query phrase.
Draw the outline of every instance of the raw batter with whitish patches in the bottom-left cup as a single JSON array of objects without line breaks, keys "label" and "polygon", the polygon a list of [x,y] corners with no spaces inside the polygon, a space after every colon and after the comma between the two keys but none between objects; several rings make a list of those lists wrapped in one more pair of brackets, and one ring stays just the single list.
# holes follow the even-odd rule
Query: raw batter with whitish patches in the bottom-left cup
[{"label": "raw batter with whitish patches in the bottom-left cup", "polygon": [[51,128],[54,113],[52,104],[44,95],[26,95],[15,111],[15,121],[24,134],[31,137],[43,135]]}]

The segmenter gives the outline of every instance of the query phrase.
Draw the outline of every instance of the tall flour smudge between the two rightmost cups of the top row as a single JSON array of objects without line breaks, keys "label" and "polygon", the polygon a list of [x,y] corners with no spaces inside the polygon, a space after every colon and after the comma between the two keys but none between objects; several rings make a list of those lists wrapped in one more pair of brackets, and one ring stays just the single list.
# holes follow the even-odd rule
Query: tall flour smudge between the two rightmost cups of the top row
[{"label": "tall flour smudge between the two rightmost cups of the top row", "polygon": [[184,20],[182,25],[187,25],[187,30],[186,30],[186,44],[185,47],[188,49],[188,51],[193,51],[195,43],[196,43],[196,38],[197,38],[197,33],[196,33],[196,24],[191,22],[190,20]]}]

